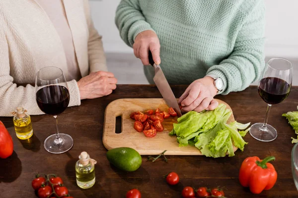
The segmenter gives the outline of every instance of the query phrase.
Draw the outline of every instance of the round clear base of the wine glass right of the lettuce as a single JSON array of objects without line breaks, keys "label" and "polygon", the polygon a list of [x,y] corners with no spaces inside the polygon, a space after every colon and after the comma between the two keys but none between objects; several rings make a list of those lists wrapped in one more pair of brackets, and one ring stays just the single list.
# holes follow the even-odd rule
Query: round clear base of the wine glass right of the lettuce
[{"label": "round clear base of the wine glass right of the lettuce", "polygon": [[267,124],[267,131],[260,130],[260,127],[263,126],[264,123],[255,123],[251,125],[249,133],[250,135],[259,141],[262,142],[271,142],[277,138],[277,131],[276,129]]}]

